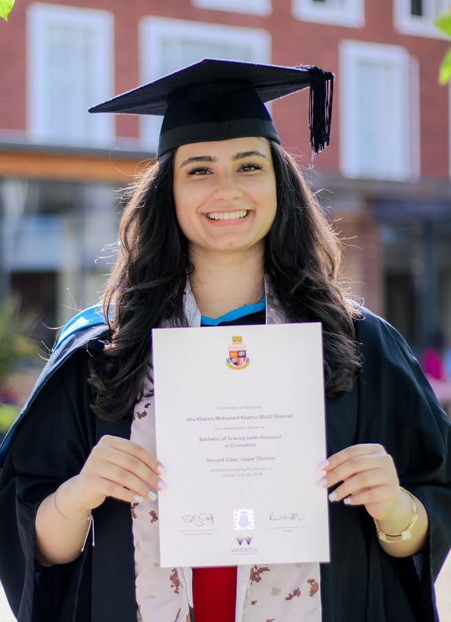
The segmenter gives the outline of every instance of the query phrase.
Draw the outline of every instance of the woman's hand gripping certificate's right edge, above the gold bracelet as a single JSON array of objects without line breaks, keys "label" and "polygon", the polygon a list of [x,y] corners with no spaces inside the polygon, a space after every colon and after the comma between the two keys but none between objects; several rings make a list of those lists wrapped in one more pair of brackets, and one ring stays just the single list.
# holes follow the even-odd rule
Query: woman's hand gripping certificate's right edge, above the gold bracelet
[{"label": "woman's hand gripping certificate's right edge, above the gold bracelet", "polygon": [[[331,501],[364,505],[378,521],[390,521],[399,511],[400,489],[395,464],[379,444],[358,444],[331,455],[323,463],[320,484],[330,488]],[[339,483],[342,482],[342,483]]]}]

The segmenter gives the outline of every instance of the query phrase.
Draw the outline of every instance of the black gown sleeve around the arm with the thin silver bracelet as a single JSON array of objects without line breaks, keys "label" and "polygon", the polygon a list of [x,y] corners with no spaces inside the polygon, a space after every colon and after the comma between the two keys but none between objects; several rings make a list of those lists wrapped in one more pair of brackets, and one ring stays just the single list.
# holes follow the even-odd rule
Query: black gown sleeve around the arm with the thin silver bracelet
[{"label": "black gown sleeve around the arm with the thin silver bracelet", "polygon": [[21,420],[0,473],[0,579],[21,622],[74,619],[81,569],[91,555],[86,546],[75,561],[51,568],[34,559],[39,504],[81,471],[95,444],[88,356],[86,348],[74,352],[46,380]]}]

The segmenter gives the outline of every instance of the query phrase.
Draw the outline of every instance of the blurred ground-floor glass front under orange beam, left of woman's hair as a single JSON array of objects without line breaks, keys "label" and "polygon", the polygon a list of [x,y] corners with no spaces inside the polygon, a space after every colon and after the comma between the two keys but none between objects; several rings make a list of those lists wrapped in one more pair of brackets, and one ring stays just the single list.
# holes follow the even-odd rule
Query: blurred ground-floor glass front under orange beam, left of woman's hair
[{"label": "blurred ground-floor glass front under orange beam, left of woman's hair", "polygon": [[114,259],[114,250],[103,247],[117,239],[117,197],[109,184],[0,180],[7,207],[0,231],[3,274],[22,305],[41,319],[34,338],[50,349],[55,331],[47,327],[98,301]]}]

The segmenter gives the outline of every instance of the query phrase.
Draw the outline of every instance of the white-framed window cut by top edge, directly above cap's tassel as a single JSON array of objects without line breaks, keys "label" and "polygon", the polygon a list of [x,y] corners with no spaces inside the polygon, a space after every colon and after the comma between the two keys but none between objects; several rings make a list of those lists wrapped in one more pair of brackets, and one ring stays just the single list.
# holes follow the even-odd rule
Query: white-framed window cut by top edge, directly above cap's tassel
[{"label": "white-framed window cut by top edge, directly above cap's tassel", "polygon": [[364,0],[292,0],[295,18],[301,21],[363,28],[365,25]]}]

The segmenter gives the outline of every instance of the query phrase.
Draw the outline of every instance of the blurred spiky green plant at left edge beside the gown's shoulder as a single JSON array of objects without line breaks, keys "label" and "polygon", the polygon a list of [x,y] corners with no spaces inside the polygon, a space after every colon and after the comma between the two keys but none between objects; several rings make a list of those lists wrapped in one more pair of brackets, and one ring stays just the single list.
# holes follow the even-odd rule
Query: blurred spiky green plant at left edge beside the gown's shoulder
[{"label": "blurred spiky green plant at left edge beside the gown's shoulder", "polygon": [[38,348],[31,339],[36,323],[34,314],[20,310],[19,298],[0,302],[0,385],[21,359],[36,355]]}]

